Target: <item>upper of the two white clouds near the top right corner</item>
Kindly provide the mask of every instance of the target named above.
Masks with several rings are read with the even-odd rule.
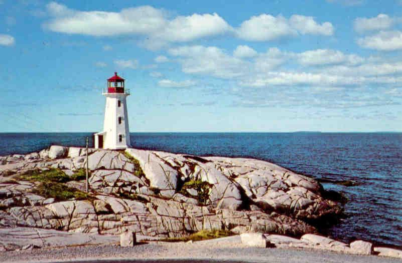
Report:
[[[353,28],[358,33],[387,30],[394,24],[394,22],[395,20],[387,15],[379,14],[374,18],[355,19],[353,22]]]

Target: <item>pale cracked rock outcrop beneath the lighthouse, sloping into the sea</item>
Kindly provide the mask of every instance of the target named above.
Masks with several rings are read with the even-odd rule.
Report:
[[[0,250],[113,243],[123,228],[147,239],[208,229],[300,237],[342,214],[316,180],[270,162],[139,149],[89,149],[85,193],[85,155],[51,146],[0,157]]]

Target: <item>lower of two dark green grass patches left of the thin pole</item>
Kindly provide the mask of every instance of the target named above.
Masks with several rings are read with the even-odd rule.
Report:
[[[87,200],[92,198],[83,191],[56,182],[42,182],[34,187],[32,192],[45,198],[53,197],[56,201],[67,201],[70,199]]]

